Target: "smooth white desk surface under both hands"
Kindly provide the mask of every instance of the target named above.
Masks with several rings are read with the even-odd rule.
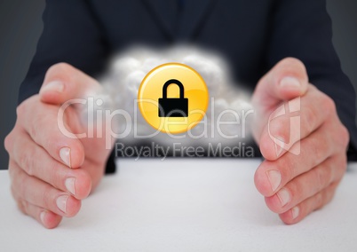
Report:
[[[76,217],[47,230],[0,172],[0,251],[357,251],[357,163],[334,201],[285,225],[253,183],[258,160],[119,161]]]

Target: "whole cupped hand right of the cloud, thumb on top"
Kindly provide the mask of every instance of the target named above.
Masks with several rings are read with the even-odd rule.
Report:
[[[308,83],[298,59],[283,59],[266,74],[252,102],[254,137],[266,158],[255,184],[284,223],[298,223],[331,201],[345,174],[348,131],[334,101]],[[291,130],[290,114],[300,117]]]

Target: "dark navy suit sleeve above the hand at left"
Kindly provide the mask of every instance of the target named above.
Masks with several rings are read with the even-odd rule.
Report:
[[[19,104],[38,93],[49,67],[67,62],[88,75],[97,75],[107,61],[107,44],[89,1],[47,0],[44,30],[28,74],[20,85]],[[107,172],[114,171],[113,158]]]

